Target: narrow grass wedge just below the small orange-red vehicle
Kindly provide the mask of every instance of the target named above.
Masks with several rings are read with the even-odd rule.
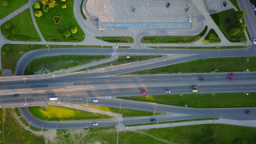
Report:
[[[93,70],[93,69],[97,69],[97,68],[104,68],[104,67],[108,67],[108,66],[116,66],[116,65],[120,65],[120,64],[128,64],[128,63],[131,63],[131,62],[137,62],[137,61],[142,61],[142,60],[149,60],[149,59],[152,59],[152,58],[160,58],[161,56],[130,56],[130,58],[126,58],[126,56],[118,56],[118,59],[115,60],[115,61],[112,61],[112,62],[108,62],[108,63],[105,63],[105,64],[100,64],[100,65],[97,65],[97,66],[92,66],[88,69],[90,70]],[[84,70],[87,70],[84,69]],[[84,71],[84,70],[80,70],[80,71]]]

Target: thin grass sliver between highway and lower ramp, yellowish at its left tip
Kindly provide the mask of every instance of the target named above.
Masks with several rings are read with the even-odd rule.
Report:
[[[76,104],[76,105],[85,106],[85,104]],[[121,106],[122,106],[122,104],[121,104]],[[122,114],[123,118],[164,114],[164,113],[159,113],[159,112],[156,112],[156,114],[154,114],[153,112],[146,112],[146,111],[142,111],[142,110],[130,110],[130,109],[125,109],[125,108],[121,108],[121,110],[120,110],[120,108],[113,108],[113,107],[108,107],[108,106],[89,105],[86,107],[94,108],[97,110],[103,110],[106,112],[114,112],[114,113]]]

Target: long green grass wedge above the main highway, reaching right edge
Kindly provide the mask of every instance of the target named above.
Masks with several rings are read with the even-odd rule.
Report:
[[[251,72],[256,71],[256,58],[247,57],[239,58],[207,58],[205,60],[192,60],[180,64],[173,64],[170,66],[163,66],[159,68],[152,68],[148,70],[141,70],[137,72],[130,72],[124,75],[144,75],[144,74],[177,74],[181,73],[210,73],[215,69],[218,72],[244,72],[249,69]]]

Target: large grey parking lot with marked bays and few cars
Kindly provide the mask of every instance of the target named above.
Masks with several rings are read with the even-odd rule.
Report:
[[[167,8],[167,4],[170,7]],[[188,12],[186,9],[189,7]],[[189,23],[189,0],[88,0],[86,11],[101,24]]]

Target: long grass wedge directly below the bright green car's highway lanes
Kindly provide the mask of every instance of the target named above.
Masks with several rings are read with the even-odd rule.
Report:
[[[134,100],[140,102],[151,102],[156,104],[166,104],[172,106],[182,106],[186,104],[189,108],[250,108],[256,107],[256,92],[250,92],[247,96],[243,92],[239,93],[216,93],[212,94],[170,94],[170,95],[148,95],[117,97],[124,100]]]

